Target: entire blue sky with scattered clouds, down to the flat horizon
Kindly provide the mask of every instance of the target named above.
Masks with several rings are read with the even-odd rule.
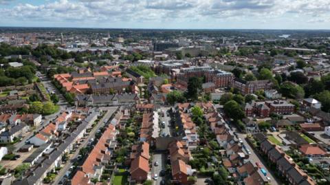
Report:
[[[0,0],[0,26],[330,29],[330,0]]]

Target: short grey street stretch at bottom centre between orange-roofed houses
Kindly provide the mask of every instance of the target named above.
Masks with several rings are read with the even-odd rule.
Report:
[[[155,166],[155,162],[158,162],[158,166]],[[153,185],[159,185],[163,177],[159,175],[160,171],[166,168],[166,154],[165,153],[153,153],[153,167],[151,168],[151,177],[155,174],[158,175],[157,180],[153,180]]]

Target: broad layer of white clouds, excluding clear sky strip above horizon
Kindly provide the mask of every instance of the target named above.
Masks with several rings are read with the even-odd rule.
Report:
[[[0,4],[9,1],[0,0]],[[39,6],[15,2],[18,4],[12,8],[0,8],[0,23],[48,21],[76,26],[104,21],[138,22],[140,28],[144,28],[152,27],[153,23],[189,25],[196,21],[209,24],[232,20],[265,24],[267,20],[288,19],[311,24],[313,21],[326,23],[330,17],[329,0],[56,0]],[[301,16],[307,19],[300,20]]]

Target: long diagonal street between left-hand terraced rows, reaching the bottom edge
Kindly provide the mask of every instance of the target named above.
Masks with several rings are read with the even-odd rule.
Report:
[[[65,166],[63,166],[61,171],[58,172],[58,175],[56,175],[54,182],[52,182],[52,184],[58,184],[58,182],[61,181],[61,179],[65,175],[65,173],[67,173],[67,171],[69,171],[69,168],[74,164],[74,159],[76,157],[78,157],[80,149],[82,149],[83,147],[86,147],[87,143],[89,142],[89,140],[91,140],[91,138],[93,138],[93,139],[95,138],[96,131],[98,129],[100,129],[101,127],[104,127],[104,120],[109,120],[109,118],[112,116],[112,114],[117,109],[118,109],[118,107],[111,107],[108,109],[107,113],[105,113],[103,118],[101,118],[100,121],[98,122],[98,124],[96,124],[96,127],[94,127],[94,129],[91,130],[88,137],[84,140],[83,144],[80,144],[80,146],[78,147],[78,149],[76,149],[76,151],[74,152],[74,154],[72,155],[70,160],[68,160],[68,162],[65,164]]]

